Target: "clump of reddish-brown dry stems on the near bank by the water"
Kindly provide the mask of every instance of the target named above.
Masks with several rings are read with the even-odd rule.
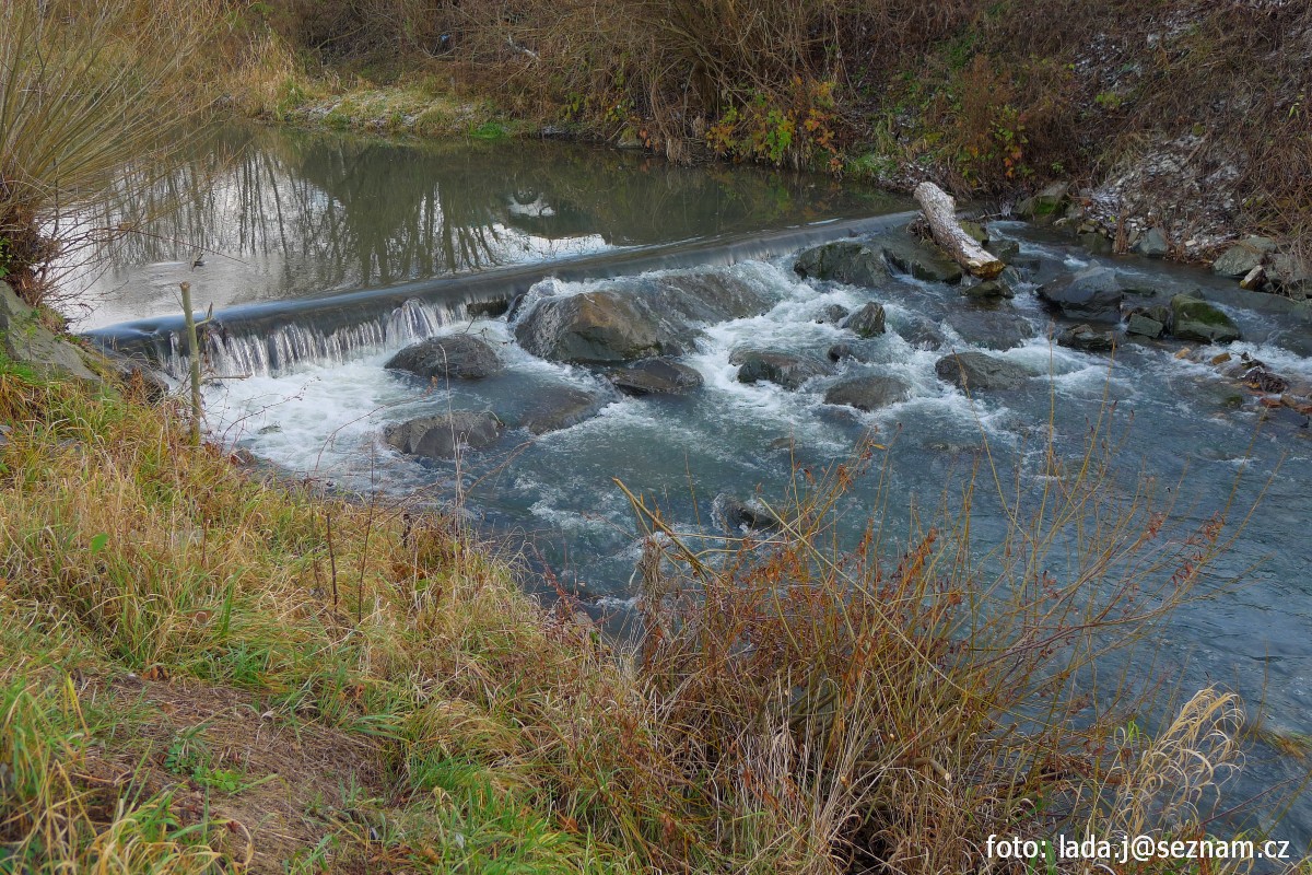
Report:
[[[1099,686],[1089,669],[1115,649],[1147,659],[1141,635],[1198,594],[1227,535],[1220,519],[1174,530],[1151,496],[1119,495],[1103,438],[1075,464],[1050,455],[1040,495],[1013,484],[1008,534],[983,551],[968,492],[908,533],[882,530],[876,512],[855,548],[840,547],[833,526],[861,463],[799,481],[783,533],[727,554],[635,497],[651,544],[644,677],[682,728],[684,769],[744,825],[723,837],[729,854],[764,846],[781,871],[964,871],[991,833],[1101,819],[1107,786],[1207,783],[1168,765],[1187,769],[1193,754],[1126,735],[1151,690],[1124,676]],[[880,487],[876,505],[887,500]],[[908,547],[890,558],[895,535]],[[1232,740],[1221,701],[1181,719]],[[1233,746],[1204,753],[1198,762],[1220,766]],[[1140,756],[1145,777],[1119,777]]]

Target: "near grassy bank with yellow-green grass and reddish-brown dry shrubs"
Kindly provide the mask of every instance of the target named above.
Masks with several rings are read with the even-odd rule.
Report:
[[[265,484],[133,386],[0,365],[0,421],[7,871],[964,871],[991,833],[1207,834],[1237,753],[1233,697],[1151,737],[1089,670],[1227,537],[1092,450],[983,554],[960,508],[838,550],[875,447],[728,554],[635,496],[625,653],[450,519]]]

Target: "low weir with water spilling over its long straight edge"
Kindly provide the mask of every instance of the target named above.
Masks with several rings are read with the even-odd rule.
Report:
[[[302,362],[341,362],[363,352],[399,348],[471,317],[471,307],[509,303],[546,278],[609,279],[652,270],[728,266],[773,258],[807,245],[875,234],[905,224],[913,213],[838,219],[795,228],[640,247],[483,273],[424,279],[315,298],[261,302],[214,314],[203,352],[219,376],[273,375]],[[190,357],[182,315],[160,316],[85,333],[105,350],[144,357],[178,376]]]

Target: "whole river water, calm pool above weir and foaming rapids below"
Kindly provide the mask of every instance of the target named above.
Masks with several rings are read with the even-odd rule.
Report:
[[[715,531],[722,496],[769,500],[795,468],[848,457],[870,429],[890,445],[886,531],[905,531],[909,508],[934,508],[983,458],[1036,488],[1051,437],[1077,458],[1092,422],[1114,408],[1119,479],[1155,479],[1186,523],[1261,495],[1242,537],[1214,568],[1233,592],[1181,610],[1157,630],[1157,668],[1183,689],[1218,682],[1263,701],[1269,725],[1312,733],[1312,442],[1305,417],[1267,416],[1206,363],[1221,350],[1177,357],[1181,344],[1127,342],[1106,354],[1055,346],[1051,316],[1033,295],[980,310],[959,290],[899,277],[878,291],[802,279],[796,251],[819,240],[905,223],[900,202],[830,180],[747,169],[680,169],[631,153],[554,143],[405,147],[344,136],[235,131],[244,151],[213,172],[213,194],[142,237],[97,281],[102,306],[84,324],[104,342],[181,366],[172,289],[193,283],[214,302],[207,332],[213,433],[260,459],[341,488],[419,495],[441,504],[459,488],[487,525],[513,530],[597,614],[623,624],[639,540],[622,480],[682,527]],[[199,171],[197,171],[199,176]],[[180,189],[186,186],[181,182]],[[1068,237],[994,223],[1035,266],[1035,282],[1105,262],[1158,295],[1202,293],[1241,327],[1248,352],[1295,382],[1312,383],[1312,321],[1287,300],[1239,291],[1206,272],[1094,256]],[[165,239],[201,239],[194,252]],[[706,325],[685,363],[705,386],[685,396],[627,397],[594,369],[530,356],[514,320],[544,295],[606,282],[714,275],[771,302],[764,315]],[[523,294],[512,314],[479,304]],[[855,341],[821,320],[832,304],[884,304],[888,333]],[[1001,328],[1000,328],[1001,325]],[[935,376],[943,350],[988,344],[1000,329],[1033,336],[998,356],[1048,378],[968,399]],[[506,369],[492,378],[424,386],[383,369],[399,348],[475,332]],[[938,335],[938,348],[926,338]],[[838,374],[799,391],[737,382],[741,346],[817,353],[857,346]],[[1197,350],[1195,350],[1197,352]],[[1200,363],[1202,362],[1202,363]],[[911,397],[875,413],[823,403],[851,373],[896,375]],[[457,463],[419,462],[380,441],[391,422],[449,409],[493,409],[513,420],[560,387],[598,399],[598,413],[534,437],[510,430],[492,450]],[[1236,485],[1237,484],[1237,485]],[[1265,492],[1265,493],[1263,493]],[[858,487],[851,518],[875,512]],[[992,510],[991,510],[992,508]],[[1002,526],[981,500],[975,537]],[[855,523],[854,523],[855,525]],[[1291,781],[1299,763],[1250,756],[1237,795]],[[1278,837],[1307,845],[1312,805],[1299,803]]]

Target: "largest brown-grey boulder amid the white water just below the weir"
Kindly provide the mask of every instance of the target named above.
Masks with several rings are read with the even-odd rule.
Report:
[[[771,302],[723,270],[627,277],[577,295],[537,300],[518,320],[514,337],[542,358],[615,363],[677,356],[698,323],[754,316]]]

